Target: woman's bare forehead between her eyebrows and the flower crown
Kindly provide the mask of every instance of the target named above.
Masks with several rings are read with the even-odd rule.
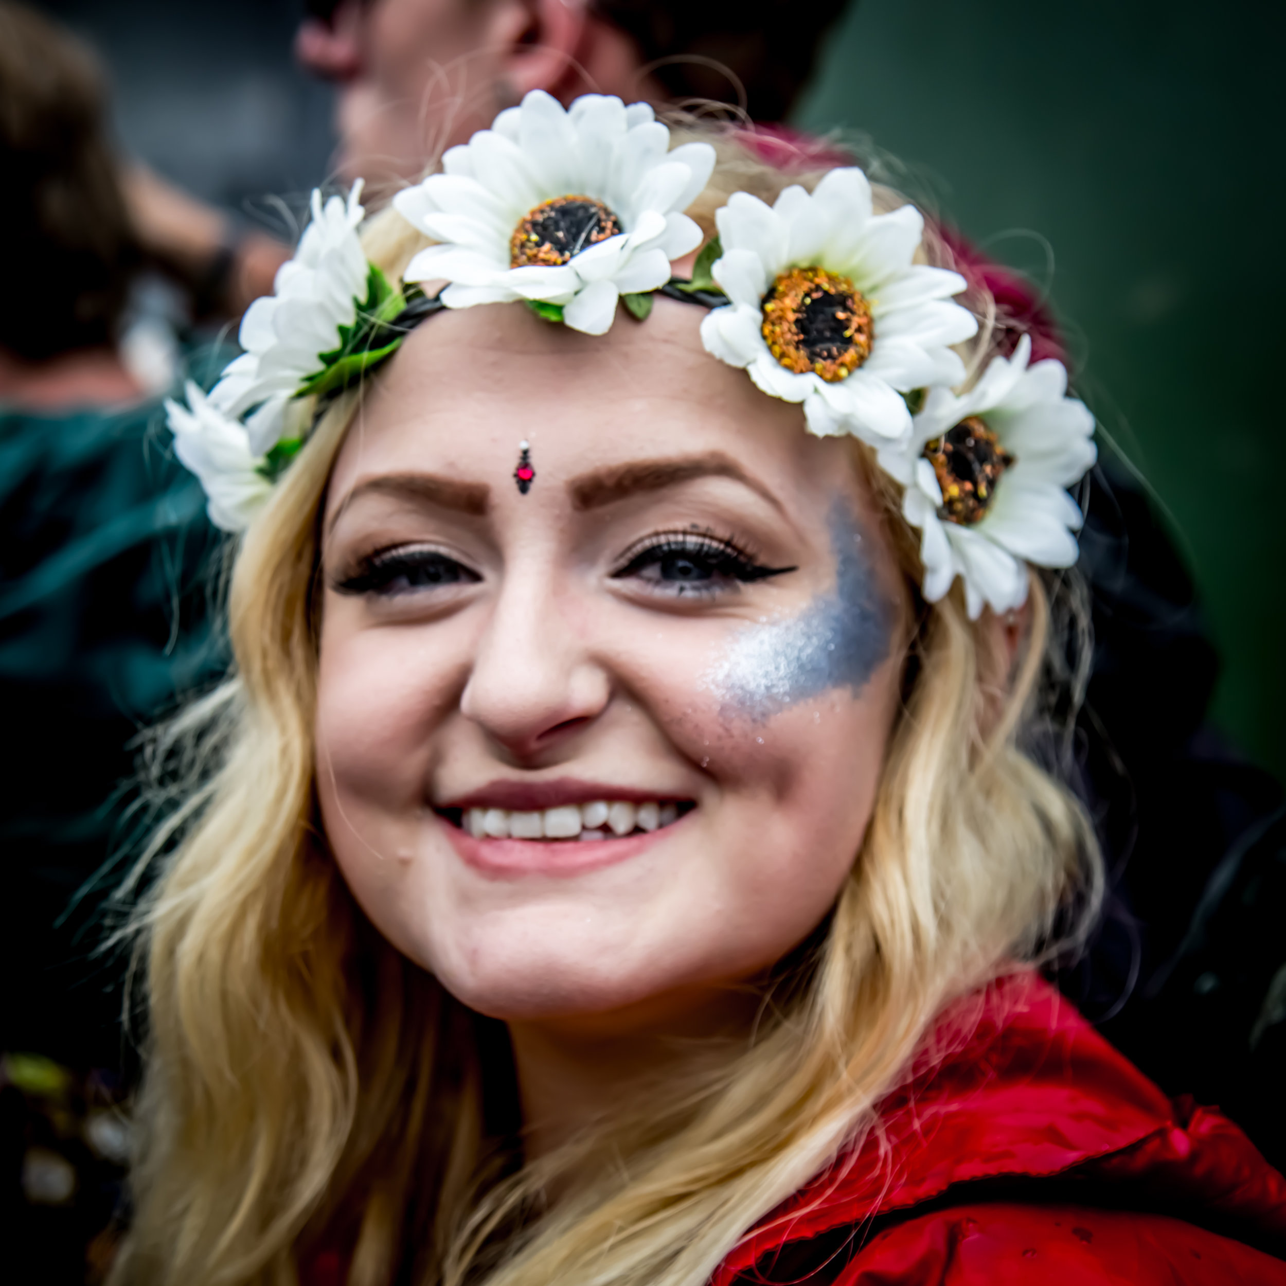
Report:
[[[658,300],[606,336],[550,325],[522,305],[431,318],[379,376],[354,421],[332,504],[359,477],[414,467],[490,469],[496,453],[563,478],[630,460],[721,454],[809,503],[851,477],[845,445],[804,431],[799,406],[764,396],[701,346],[703,310]]]

